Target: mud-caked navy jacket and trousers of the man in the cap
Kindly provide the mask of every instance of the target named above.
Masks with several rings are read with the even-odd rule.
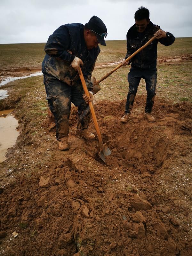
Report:
[[[47,100],[55,117],[57,140],[68,139],[71,102],[78,107],[77,129],[87,129],[90,108],[83,99],[84,90],[78,72],[70,66],[75,56],[83,61],[82,72],[88,91],[92,91],[91,76],[99,46],[88,50],[84,40],[84,25],[60,26],[49,36],[42,62]]]

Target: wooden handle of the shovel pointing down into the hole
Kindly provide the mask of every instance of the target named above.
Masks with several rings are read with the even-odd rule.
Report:
[[[78,70],[78,73],[79,73],[79,76],[80,76],[80,79],[81,79],[81,83],[83,85],[84,92],[85,92],[86,96],[90,98],[89,92],[88,92],[88,89],[87,89],[87,85],[85,83],[85,79],[84,79],[84,76],[83,76],[83,73],[82,73],[82,70],[81,70],[80,67],[77,68],[77,70]],[[91,110],[91,114],[92,114],[93,122],[95,124],[96,131],[97,131],[97,136],[98,136],[98,139],[99,139],[99,144],[103,144],[103,141],[102,141],[102,138],[101,138],[101,134],[100,134],[99,125],[97,123],[97,118],[96,118],[96,115],[95,115],[95,110],[93,108],[92,101],[89,101],[89,107],[90,107],[90,110]]]

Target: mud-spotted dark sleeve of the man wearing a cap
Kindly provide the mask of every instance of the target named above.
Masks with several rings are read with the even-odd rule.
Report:
[[[75,56],[67,51],[70,49],[70,44],[69,31],[63,25],[57,28],[53,34],[49,36],[44,50],[51,57],[72,62]]]

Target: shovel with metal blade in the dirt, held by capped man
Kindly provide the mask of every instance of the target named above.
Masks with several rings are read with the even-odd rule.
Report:
[[[81,83],[83,85],[84,92],[85,92],[86,96],[90,98],[81,68],[80,67],[77,68],[77,71],[79,73]],[[93,122],[95,124],[95,128],[96,128],[96,131],[97,131],[97,136],[98,136],[98,139],[99,139],[99,144],[98,144],[98,148],[100,150],[99,151],[99,156],[103,160],[103,162],[106,164],[105,157],[110,155],[111,151],[110,151],[110,149],[108,148],[108,146],[106,144],[103,144],[101,134],[100,134],[99,125],[97,123],[97,118],[96,118],[96,115],[95,115],[95,111],[94,111],[94,108],[93,108],[92,101],[89,102],[89,107],[90,107],[90,110],[91,110],[91,114],[92,114],[92,117],[93,117]]]

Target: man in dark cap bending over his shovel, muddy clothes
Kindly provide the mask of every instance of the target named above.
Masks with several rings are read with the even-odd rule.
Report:
[[[55,117],[56,138],[60,150],[69,149],[69,115],[71,102],[78,107],[76,134],[86,140],[95,135],[88,131],[91,113],[89,101],[93,100],[91,76],[100,47],[106,45],[107,28],[103,21],[93,16],[85,25],[65,24],[56,29],[45,45],[42,62],[44,84],[49,108]],[[90,99],[84,94],[77,68],[82,72]]]

